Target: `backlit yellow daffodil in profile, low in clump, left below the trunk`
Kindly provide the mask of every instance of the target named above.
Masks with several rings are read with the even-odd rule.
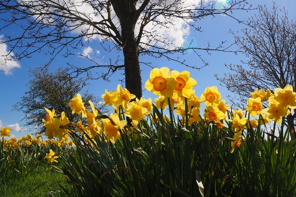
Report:
[[[121,137],[119,129],[123,129],[127,122],[125,120],[120,121],[118,115],[115,113],[110,115],[110,119],[102,119],[102,121],[104,131],[107,134],[107,140],[114,144],[116,140]]]

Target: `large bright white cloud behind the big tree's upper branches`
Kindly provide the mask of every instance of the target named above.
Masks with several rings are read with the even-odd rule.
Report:
[[[31,1],[33,1],[33,0],[31,0]],[[203,2],[203,5],[217,2],[216,4],[219,6],[222,6],[222,5],[226,6],[227,3],[229,2],[229,0],[180,0],[175,5],[175,7],[171,7],[171,9],[182,9],[182,8],[185,8],[186,10],[194,9],[194,8],[200,6],[201,1]],[[53,0],[53,2],[59,2],[59,1]],[[94,4],[96,2],[97,1],[92,1],[92,3],[94,3]],[[142,2],[143,1],[138,1],[137,8],[139,8],[141,6]],[[175,0],[164,0],[163,4],[165,4],[165,6],[167,6],[167,5],[173,4],[174,2],[175,2]],[[97,3],[99,3],[99,2],[97,2]],[[158,0],[151,0],[149,3],[150,4],[158,3]],[[108,18],[108,13],[107,13],[106,9],[103,9],[100,12],[100,14],[97,14],[96,13],[97,11],[95,11],[93,9],[93,6],[91,6],[90,3],[87,3],[87,1],[83,1],[81,3],[80,0],[73,0],[72,4],[64,1],[64,4],[65,4],[64,7],[68,6],[79,17],[87,19],[87,20],[100,22],[103,19]],[[96,6],[96,5],[94,5],[94,6]],[[157,9],[157,8],[162,8],[162,7],[156,7],[156,6],[154,7],[154,9]],[[42,11],[42,10],[40,10],[40,11]],[[44,10],[44,11],[46,11],[46,10]],[[141,16],[143,17],[144,15],[142,14]],[[186,17],[186,16],[189,16],[189,14],[183,13],[182,16]],[[111,19],[112,19],[113,24],[115,24],[116,29],[118,29],[120,32],[120,30],[121,30],[120,23],[119,23],[117,16],[115,15],[115,12],[114,12],[112,6],[111,6]],[[162,15],[158,16],[155,20],[164,23],[166,27],[158,25],[157,23],[150,22],[144,28],[144,32],[146,32],[146,33],[151,32],[152,36],[149,34],[147,34],[146,36],[143,36],[141,39],[141,42],[149,43],[150,45],[156,45],[158,47],[163,47],[166,49],[173,49],[175,47],[182,47],[182,45],[186,41],[187,36],[190,34],[190,29],[189,29],[188,23],[193,22],[193,21],[191,19],[180,19],[178,17],[173,18],[171,16],[164,17]],[[139,34],[141,22],[142,22],[142,20],[140,17],[140,19],[138,20],[138,24],[135,27],[135,35],[136,36]],[[91,25],[81,25],[80,27],[77,27],[76,25],[79,25],[79,23],[80,23],[79,21],[77,21],[76,23],[69,22],[68,25],[73,27],[73,30],[70,29],[71,33],[73,33],[73,34],[81,34],[81,32],[89,33],[89,34],[93,33],[92,35],[90,35],[91,37],[84,38],[85,40],[89,40],[89,41],[92,41],[94,39],[102,41],[103,39],[106,38],[100,34],[96,34],[99,32],[96,29],[94,29]],[[111,31],[110,33],[115,34],[114,32],[112,32],[112,30],[110,30],[110,31]],[[149,46],[145,46],[145,45],[142,45],[142,47],[147,48],[147,49],[149,48]],[[90,47],[84,48],[82,55],[85,54],[85,56],[86,55],[89,56],[93,52],[92,50],[90,52],[87,51],[87,49],[89,49],[89,48]],[[96,53],[99,54],[99,51],[96,51]]]

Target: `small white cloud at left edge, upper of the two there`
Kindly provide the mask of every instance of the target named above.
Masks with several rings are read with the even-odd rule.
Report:
[[[13,68],[21,67],[17,61],[14,60],[6,60],[5,56],[8,54],[7,45],[5,43],[1,43],[3,41],[3,35],[0,35],[0,70],[4,71],[5,75],[11,75]],[[13,56],[13,53],[10,53]],[[11,56],[8,56],[6,59],[12,59]]]

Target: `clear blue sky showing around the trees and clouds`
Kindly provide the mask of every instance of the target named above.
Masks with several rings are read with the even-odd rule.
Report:
[[[228,0],[227,0],[228,1]],[[215,3],[215,1],[213,1]],[[223,2],[226,2],[223,0]],[[221,6],[223,2],[219,2],[216,6]],[[271,10],[272,0],[249,0],[250,4],[256,7],[258,4],[266,4],[266,7]],[[276,6],[278,8],[282,8],[285,6],[285,9],[288,11],[289,20],[295,20],[296,13],[296,1],[295,0],[274,0]],[[251,16],[254,16],[258,11],[235,11],[233,14],[234,17],[237,17],[240,20],[247,19]],[[202,27],[202,33],[195,32],[190,29],[190,34],[187,36],[187,41],[190,42],[193,39],[193,44],[196,47],[207,47],[207,43],[209,42],[211,47],[218,46],[221,41],[227,40],[225,46],[233,43],[234,38],[233,35],[229,32],[229,29],[236,32],[239,31],[245,26],[243,24],[238,24],[235,20],[231,19],[227,16],[216,16],[206,17],[198,22],[195,22],[197,26]],[[0,24],[0,26],[2,26]],[[0,39],[5,39],[2,35],[14,34],[14,29],[7,28],[3,31],[0,31]],[[241,34],[241,33],[240,33]],[[180,40],[179,40],[180,41]],[[122,56],[122,52],[119,53],[108,53],[104,51],[104,49],[100,46],[100,41],[91,40],[90,42],[85,42],[85,46],[78,48],[75,53],[80,54],[88,54],[94,60],[101,62],[102,64],[110,64],[109,58],[117,55]],[[186,44],[186,43],[185,43]],[[0,44],[0,55],[3,54],[7,50],[5,45]],[[17,52],[17,51],[13,51]],[[229,103],[226,96],[231,95],[229,91],[219,85],[219,81],[216,80],[214,74],[218,74],[218,77],[222,77],[224,73],[228,73],[229,71],[225,68],[224,64],[240,64],[240,60],[245,60],[246,57],[243,54],[234,55],[233,53],[226,52],[212,52],[211,55],[208,55],[204,51],[199,51],[202,55],[203,59],[209,63],[209,66],[206,66],[200,70],[191,69],[189,67],[181,66],[179,63],[175,63],[173,61],[168,61],[165,58],[162,59],[154,59],[147,56],[140,56],[140,62],[152,62],[152,66],[162,67],[167,66],[170,69],[176,69],[178,71],[187,70],[191,73],[191,77],[197,81],[197,85],[195,86],[196,95],[200,96],[204,89],[208,86],[217,86],[219,91],[222,94],[222,99],[225,99],[226,102]],[[3,64],[3,60],[0,63]],[[198,56],[194,52],[188,52],[185,56],[181,57],[186,59],[186,63],[194,66],[203,66],[202,62],[198,60]],[[25,116],[22,112],[12,111],[12,105],[20,100],[20,98],[24,95],[28,87],[26,84],[29,81],[28,70],[29,67],[34,68],[37,66],[42,66],[49,60],[49,56],[45,56],[42,53],[36,53],[30,59],[22,59],[21,61],[10,63],[9,66],[4,67],[0,65],[0,126],[6,127],[9,126],[11,128],[11,136],[21,137],[25,134],[29,134],[26,129],[22,132],[19,132],[22,124],[22,117]],[[76,66],[78,65],[91,65],[91,62],[86,60],[85,58],[81,58],[79,56],[70,56],[68,58],[64,58],[62,56],[58,56],[50,65],[50,70],[54,71],[57,67],[67,66],[66,63],[74,63]],[[148,66],[141,66],[142,71],[142,83],[145,82],[149,78],[149,73],[151,68]],[[96,70],[99,71],[100,70]],[[94,70],[95,73],[95,70]],[[108,91],[112,91],[116,88],[117,84],[120,83],[118,79],[122,79],[122,73],[116,73],[110,79],[110,82],[106,82],[102,79],[89,81],[91,85],[87,87],[89,93],[93,93],[94,95],[100,96],[104,94],[105,89]],[[124,84],[123,84],[124,85]],[[143,87],[143,90],[145,88]],[[145,98],[151,97],[152,99],[156,98],[156,95],[149,93],[148,91],[143,92],[143,96]]]

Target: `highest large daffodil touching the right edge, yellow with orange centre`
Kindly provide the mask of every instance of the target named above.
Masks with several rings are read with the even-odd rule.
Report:
[[[288,85],[284,89],[274,89],[274,99],[280,103],[284,103],[287,108],[296,108],[296,93],[293,92],[292,85]]]

